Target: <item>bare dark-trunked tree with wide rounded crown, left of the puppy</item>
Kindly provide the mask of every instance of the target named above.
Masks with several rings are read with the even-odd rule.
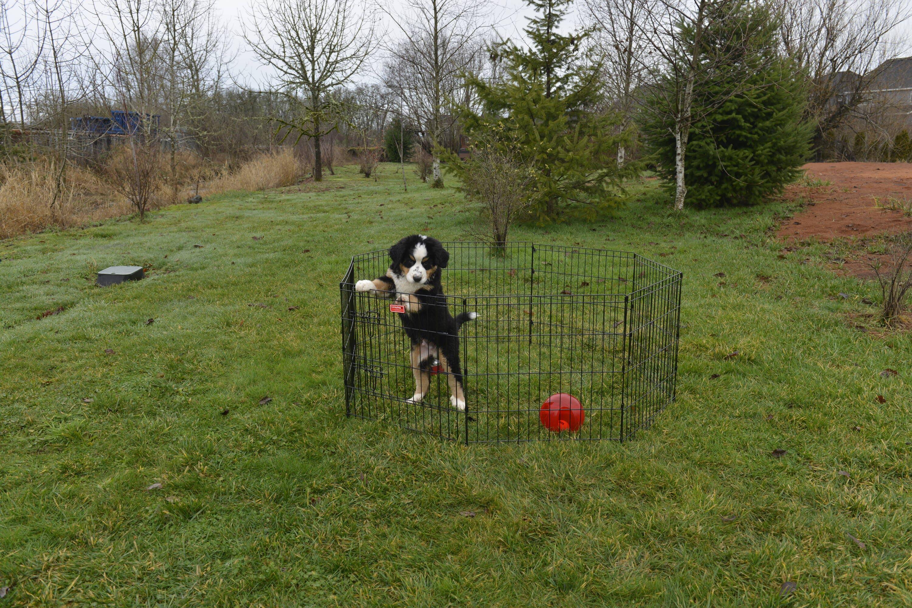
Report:
[[[314,144],[314,180],[323,179],[320,139],[336,129],[334,88],[351,81],[374,47],[374,26],[356,0],[271,0],[251,12],[247,41],[298,103],[280,124]]]

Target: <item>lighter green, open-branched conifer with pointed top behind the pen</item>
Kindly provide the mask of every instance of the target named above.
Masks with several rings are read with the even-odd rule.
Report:
[[[617,203],[621,179],[636,171],[618,169],[615,151],[628,134],[617,135],[617,117],[596,109],[602,98],[600,65],[580,51],[591,30],[557,31],[571,3],[526,0],[536,12],[525,28],[530,47],[510,41],[492,46],[492,57],[503,62],[503,78],[486,82],[468,75],[481,110],[460,108],[470,142],[500,141],[518,149],[523,163],[534,168],[531,211],[543,222],[560,220],[574,203]],[[457,174],[471,168],[451,152],[444,156]]]

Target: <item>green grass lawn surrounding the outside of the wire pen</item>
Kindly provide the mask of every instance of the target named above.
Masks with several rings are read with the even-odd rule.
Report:
[[[684,272],[678,400],[623,445],[466,448],[344,416],[349,256],[474,217],[393,171],[0,242],[0,606],[912,603],[912,347],[782,251],[785,204],[648,182],[518,227]],[[152,270],[93,286],[114,263]]]

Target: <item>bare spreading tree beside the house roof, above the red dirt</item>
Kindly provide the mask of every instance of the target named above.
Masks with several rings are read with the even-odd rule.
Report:
[[[803,73],[806,119],[814,143],[871,100],[877,69],[903,45],[899,27],[912,15],[906,0],[775,0],[785,53]]]

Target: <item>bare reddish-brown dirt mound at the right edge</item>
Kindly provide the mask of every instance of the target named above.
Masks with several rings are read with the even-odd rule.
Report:
[[[912,164],[906,162],[810,162],[810,180],[830,185],[794,184],[786,196],[808,201],[803,211],[783,222],[779,236],[786,240],[822,241],[896,234],[912,230],[912,217],[902,211],[878,208],[907,204],[912,211]]]

